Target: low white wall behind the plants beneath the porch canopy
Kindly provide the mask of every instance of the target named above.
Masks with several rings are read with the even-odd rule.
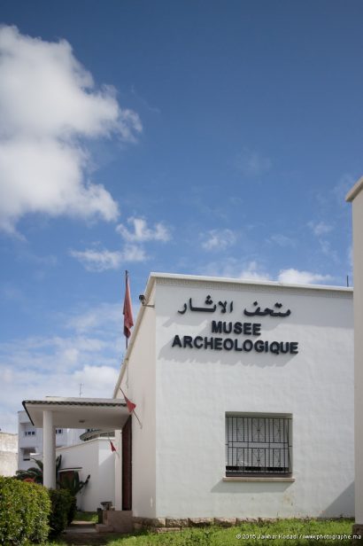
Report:
[[[62,455],[61,468],[81,467],[80,479],[85,481],[90,474],[89,483],[77,495],[77,505],[83,511],[96,511],[103,501],[114,497],[114,457],[107,438],[96,438],[67,448],[57,448]]]

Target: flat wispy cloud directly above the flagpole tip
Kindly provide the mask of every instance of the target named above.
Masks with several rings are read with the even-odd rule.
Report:
[[[143,248],[135,245],[127,245],[121,251],[87,249],[83,251],[71,250],[70,254],[76,260],[81,261],[85,269],[97,273],[108,269],[119,269],[122,263],[147,260]]]

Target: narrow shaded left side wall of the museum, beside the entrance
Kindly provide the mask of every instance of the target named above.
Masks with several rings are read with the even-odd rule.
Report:
[[[151,294],[150,302],[153,301]],[[132,417],[132,503],[134,516],[155,517],[156,463],[155,463],[155,309],[142,308],[143,320],[137,336],[131,339],[129,358],[121,388],[132,402],[143,428]],[[135,341],[135,343],[134,343]],[[118,398],[123,398],[120,391]],[[121,453],[120,435],[117,439]],[[119,461],[117,462],[119,464]],[[121,456],[120,456],[121,464]],[[116,507],[120,510],[120,471],[116,472]]]

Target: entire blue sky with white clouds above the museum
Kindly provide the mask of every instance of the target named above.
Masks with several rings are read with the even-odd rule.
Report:
[[[345,285],[360,1],[2,2],[0,427],[110,396],[124,271]]]

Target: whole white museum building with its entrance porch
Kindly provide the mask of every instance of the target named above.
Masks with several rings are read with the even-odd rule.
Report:
[[[351,516],[352,346],[349,288],[151,274],[113,398],[24,402],[45,483],[54,426],[93,422],[136,522]]]

